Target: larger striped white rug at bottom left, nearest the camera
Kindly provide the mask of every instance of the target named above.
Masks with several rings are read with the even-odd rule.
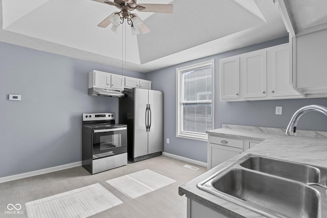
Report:
[[[27,202],[28,217],[88,217],[123,202],[99,183]]]

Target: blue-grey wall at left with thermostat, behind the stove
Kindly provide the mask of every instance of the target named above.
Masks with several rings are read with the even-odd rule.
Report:
[[[115,112],[87,95],[88,72],[121,69],[0,42],[0,178],[82,160],[82,113]],[[145,74],[124,70],[125,76]],[[9,101],[8,94],[21,94]]]

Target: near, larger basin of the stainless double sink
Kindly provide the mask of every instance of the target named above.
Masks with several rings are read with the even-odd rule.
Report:
[[[243,169],[232,169],[213,187],[286,217],[318,217],[319,193],[314,188]]]

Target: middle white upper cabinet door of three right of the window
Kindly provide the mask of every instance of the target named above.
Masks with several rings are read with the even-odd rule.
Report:
[[[244,98],[267,96],[267,52],[260,50],[241,56]]]

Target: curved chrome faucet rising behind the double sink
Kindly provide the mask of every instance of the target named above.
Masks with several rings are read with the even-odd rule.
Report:
[[[327,116],[327,107],[325,106],[321,106],[321,105],[308,105],[308,106],[304,106],[300,109],[298,109],[294,115],[292,116],[292,119],[290,121],[290,123],[287,126],[286,129],[286,135],[293,135],[293,133],[296,132],[296,125],[298,122],[298,119],[305,113],[309,112],[309,111],[319,111],[321,113],[323,113],[324,115]]]

